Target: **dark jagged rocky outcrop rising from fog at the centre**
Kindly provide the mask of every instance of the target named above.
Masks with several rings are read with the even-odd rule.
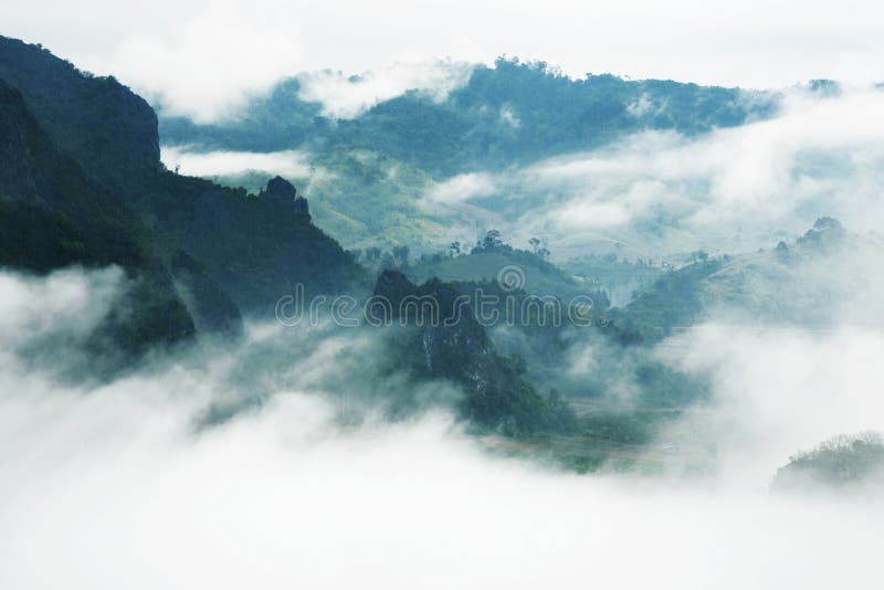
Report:
[[[417,286],[397,271],[381,273],[375,287],[378,305],[412,326],[410,338],[400,343],[401,357],[421,377],[459,384],[465,419],[507,434],[573,428],[570,408],[541,398],[525,378],[524,364],[495,351],[472,305],[460,296],[438,278]]]

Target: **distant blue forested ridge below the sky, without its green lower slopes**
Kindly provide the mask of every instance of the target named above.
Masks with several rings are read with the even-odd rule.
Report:
[[[233,120],[162,117],[164,141],[253,151],[365,149],[440,179],[588,150],[640,130],[733,127],[769,117],[779,105],[770,93],[610,74],[572,80],[544,62],[504,57],[494,67],[476,65],[444,101],[411,91],[350,119],[303,101],[302,84],[278,83]]]

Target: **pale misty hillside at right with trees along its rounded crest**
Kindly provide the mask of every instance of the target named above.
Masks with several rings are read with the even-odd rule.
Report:
[[[629,341],[656,341],[707,317],[767,327],[829,329],[875,317],[884,285],[869,274],[884,257],[874,235],[849,233],[820,218],[791,243],[749,254],[709,257],[662,275],[608,315]],[[865,299],[857,301],[857,294]]]

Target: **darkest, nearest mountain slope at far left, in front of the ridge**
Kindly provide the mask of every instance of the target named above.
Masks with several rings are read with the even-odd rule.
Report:
[[[194,318],[173,273],[145,246],[149,230],[55,149],[21,94],[2,81],[0,138],[0,264],[38,273],[71,264],[123,266],[135,286],[112,313],[117,320],[103,327],[113,346],[102,352],[139,354],[192,336]],[[231,317],[239,317],[235,308]]]

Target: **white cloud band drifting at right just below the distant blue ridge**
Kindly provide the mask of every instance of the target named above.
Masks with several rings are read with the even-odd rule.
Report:
[[[636,134],[501,175],[455,177],[434,191],[493,196],[496,211],[517,219],[501,229],[516,241],[545,238],[558,256],[611,241],[639,256],[748,251],[821,215],[867,231],[884,221],[882,113],[880,91],[819,98],[794,89],[769,120],[698,137]]]

